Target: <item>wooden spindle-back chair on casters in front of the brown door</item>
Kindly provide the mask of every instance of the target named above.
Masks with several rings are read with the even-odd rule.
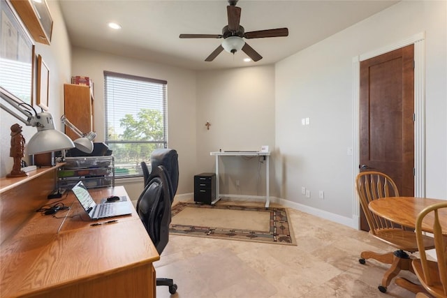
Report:
[[[368,204],[372,200],[386,197],[398,197],[399,191],[393,179],[381,172],[360,172],[356,178],[356,187],[358,198],[365,213],[369,225],[369,234],[377,239],[394,246],[397,251],[389,253],[375,253],[373,251],[363,251],[358,260],[360,264],[365,264],[365,260],[374,259],[384,264],[390,264],[390,268],[383,274],[379,290],[386,292],[390,282],[401,270],[413,271],[411,267],[411,260],[409,253],[418,251],[418,244],[416,242],[416,233],[405,227],[401,227],[396,223],[386,220],[381,216],[369,211]],[[392,200],[392,199],[391,199]],[[398,211],[398,210],[397,210]],[[433,239],[430,237],[423,237],[423,247],[426,249],[434,248]],[[400,285],[400,284],[399,284]],[[404,283],[404,288],[411,290],[411,292],[420,292],[423,290],[421,286],[409,285]]]

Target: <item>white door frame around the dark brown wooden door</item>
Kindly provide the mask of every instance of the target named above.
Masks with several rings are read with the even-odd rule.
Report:
[[[352,59],[353,66],[353,224],[360,229],[360,203],[354,183],[360,172],[359,159],[359,103],[360,61],[414,44],[414,195],[425,197],[425,32],[418,33],[397,43],[360,54]]]

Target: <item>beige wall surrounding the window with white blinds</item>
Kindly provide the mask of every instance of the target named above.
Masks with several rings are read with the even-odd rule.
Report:
[[[196,73],[78,47],[73,48],[72,66],[71,75],[91,77],[94,82],[94,130],[98,142],[104,140],[105,129],[104,70],[168,81],[168,147],[179,154],[177,193],[191,193],[196,172]],[[132,200],[138,199],[142,179],[133,183],[118,181],[119,184],[126,187]]]

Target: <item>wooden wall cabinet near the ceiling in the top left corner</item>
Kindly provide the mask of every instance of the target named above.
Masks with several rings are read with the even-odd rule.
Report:
[[[10,0],[36,43],[50,45],[53,20],[47,1]]]

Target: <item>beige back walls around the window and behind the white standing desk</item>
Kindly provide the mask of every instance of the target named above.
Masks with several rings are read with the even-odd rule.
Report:
[[[119,57],[103,52],[73,48],[72,75],[85,75],[94,82],[94,126],[96,140],[104,140],[103,70],[168,81],[168,146],[179,153],[177,194],[193,192],[193,176],[214,172],[210,151],[254,150],[274,147],[274,67],[204,71],[175,68]],[[197,90],[197,91],[196,91]],[[211,122],[208,131],[205,123]],[[230,161],[232,163],[232,161]],[[233,161],[226,172],[240,180],[240,188],[222,184],[223,193],[265,193],[265,165]],[[228,182],[228,181],[226,181]],[[120,182],[132,200],[142,191],[142,182]],[[230,191],[231,190],[231,191]]]

